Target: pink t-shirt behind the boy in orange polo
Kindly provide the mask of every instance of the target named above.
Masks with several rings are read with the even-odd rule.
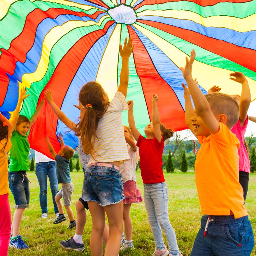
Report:
[[[251,164],[250,164],[249,156],[244,144],[244,136],[245,136],[247,125],[248,125],[248,116],[246,117],[243,127],[241,127],[240,121],[238,120],[237,123],[232,127],[230,131],[234,133],[237,139],[239,139],[240,141],[240,148],[238,149],[239,171],[250,173]]]

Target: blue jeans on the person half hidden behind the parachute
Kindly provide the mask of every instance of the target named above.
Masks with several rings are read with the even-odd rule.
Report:
[[[47,176],[50,181],[50,188],[52,192],[52,202],[54,205],[54,212],[57,213],[58,207],[55,202],[55,195],[59,192],[58,180],[55,169],[55,162],[40,162],[36,164],[36,177],[40,187],[39,201],[42,209],[42,213],[48,213],[47,208]]]

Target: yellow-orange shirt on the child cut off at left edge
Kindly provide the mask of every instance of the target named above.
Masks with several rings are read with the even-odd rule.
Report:
[[[6,146],[5,146],[6,144]],[[4,148],[5,146],[5,148]],[[4,149],[3,149],[4,148]],[[9,193],[9,182],[8,182],[8,158],[7,153],[11,148],[11,139],[2,139],[0,141],[0,195]]]

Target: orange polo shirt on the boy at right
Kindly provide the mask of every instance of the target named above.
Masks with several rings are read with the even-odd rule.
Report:
[[[195,183],[201,213],[207,215],[247,215],[243,189],[239,183],[240,146],[236,135],[220,123],[220,130],[199,136],[201,147],[195,161]],[[233,214],[232,214],[233,213]]]

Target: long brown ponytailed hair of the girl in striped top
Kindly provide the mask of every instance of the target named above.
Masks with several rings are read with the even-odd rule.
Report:
[[[86,154],[93,156],[97,155],[94,151],[94,139],[97,138],[96,130],[99,119],[106,112],[109,102],[103,100],[104,90],[97,82],[86,83],[79,93],[79,100],[83,106],[91,104],[92,108],[86,108],[80,123],[76,125],[76,134],[81,135],[81,140],[86,148]]]

